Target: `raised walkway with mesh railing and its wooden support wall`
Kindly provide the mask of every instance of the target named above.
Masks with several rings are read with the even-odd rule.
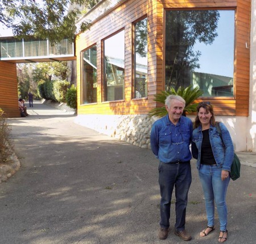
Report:
[[[17,63],[76,60],[74,43],[68,39],[51,45],[48,40],[0,38],[0,108],[19,117]]]

